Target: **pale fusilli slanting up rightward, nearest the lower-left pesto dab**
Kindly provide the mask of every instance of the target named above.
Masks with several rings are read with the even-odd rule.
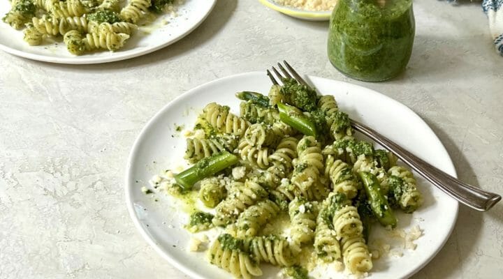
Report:
[[[233,223],[242,211],[249,206],[268,196],[268,191],[259,183],[247,180],[245,183],[236,183],[235,188],[228,193],[226,199],[215,208],[213,224],[225,226]]]

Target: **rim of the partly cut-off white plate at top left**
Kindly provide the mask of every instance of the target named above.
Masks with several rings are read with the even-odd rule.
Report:
[[[207,1],[207,0],[205,0]],[[34,54],[30,52],[24,52],[22,50],[17,50],[13,47],[8,47],[7,45],[3,45],[0,43],[0,50],[3,52],[7,52],[8,54],[13,54],[15,56],[20,56],[26,59],[31,59],[35,61],[43,61],[43,62],[49,62],[49,63],[58,63],[58,64],[68,64],[68,65],[82,65],[82,64],[99,64],[99,63],[110,63],[110,62],[115,62],[115,61],[122,61],[122,60],[127,60],[131,58],[135,58],[138,56],[143,56],[145,54],[150,54],[152,52],[155,52],[156,50],[160,50],[161,48],[167,47],[168,45],[173,45],[176,43],[178,40],[181,40],[185,36],[189,35],[189,33],[192,33],[196,28],[198,28],[205,20],[206,18],[210,15],[212,12],[214,6],[217,4],[217,0],[210,0],[212,1],[210,8],[206,11],[206,13],[201,17],[196,24],[194,24],[191,28],[187,29],[184,33],[181,33],[180,36],[177,36],[173,38],[172,40],[168,40],[165,43],[161,45],[156,45],[155,47],[147,48],[146,50],[141,50],[138,52],[131,52],[129,54],[122,54],[121,52],[114,52],[118,55],[112,55],[112,56],[105,56],[105,57],[84,57],[84,58],[76,58],[75,57],[53,57],[53,56],[47,56],[43,54]]]

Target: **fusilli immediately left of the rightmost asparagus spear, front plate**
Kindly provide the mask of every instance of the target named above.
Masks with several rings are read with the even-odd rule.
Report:
[[[353,169],[342,160],[335,160],[331,155],[327,156],[325,162],[325,174],[333,183],[335,193],[343,193],[349,199],[356,197],[358,193],[358,180],[353,174]]]

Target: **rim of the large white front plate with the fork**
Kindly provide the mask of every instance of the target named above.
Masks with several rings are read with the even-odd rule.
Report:
[[[145,239],[145,241],[147,241],[147,243],[149,243],[150,246],[152,248],[154,248],[154,250],[159,255],[161,255],[161,257],[163,257],[163,259],[166,259],[169,262],[169,264],[171,264],[172,266],[174,266],[176,269],[182,271],[183,273],[185,273],[188,276],[191,276],[193,278],[205,279],[203,276],[201,276],[200,274],[196,273],[192,269],[189,269],[186,266],[184,266],[184,264],[182,264],[178,259],[176,259],[175,257],[172,257],[171,255],[169,255],[168,253],[166,253],[165,251],[163,251],[161,249],[161,247],[157,243],[155,243],[154,239],[149,236],[149,234],[148,234],[147,230],[145,229],[145,227],[143,227],[143,225],[140,223],[140,218],[138,218],[138,216],[136,214],[136,210],[134,208],[133,201],[132,201],[132,195],[131,195],[132,194],[132,189],[133,189],[133,183],[130,183],[130,182],[134,181],[134,179],[133,179],[133,172],[131,171],[131,163],[133,162],[133,158],[136,156],[136,154],[139,151],[140,142],[142,142],[143,138],[147,136],[146,132],[150,128],[150,126],[152,125],[152,123],[154,123],[155,121],[157,121],[158,119],[160,119],[161,115],[164,114],[166,112],[166,110],[168,110],[171,106],[175,105],[175,103],[178,100],[180,100],[181,98],[184,98],[184,97],[190,95],[193,91],[198,91],[198,90],[204,88],[205,86],[210,86],[210,84],[214,84],[214,83],[217,83],[217,82],[225,82],[226,80],[235,79],[235,78],[240,77],[240,76],[257,75],[257,74],[263,75],[264,73],[263,73],[263,71],[251,71],[251,72],[246,72],[246,73],[238,73],[238,74],[234,74],[234,75],[228,75],[226,77],[221,77],[221,78],[218,78],[218,79],[215,79],[215,80],[210,80],[209,82],[205,82],[205,83],[200,84],[198,86],[195,86],[195,87],[193,87],[193,88],[191,88],[191,89],[189,89],[187,91],[184,91],[184,93],[182,93],[179,96],[173,98],[173,100],[170,100],[170,102],[168,102],[166,105],[164,105],[159,111],[157,111],[154,114],[154,116],[152,116],[147,121],[147,123],[145,123],[145,126],[143,126],[143,128],[140,130],[140,133],[138,134],[138,136],[134,140],[133,146],[132,146],[131,151],[129,153],[129,156],[127,157],[126,170],[125,170],[126,171],[126,175],[125,175],[125,181],[124,181],[125,182],[124,183],[124,191],[125,191],[124,198],[125,198],[126,207],[128,209],[129,216],[133,220],[133,224],[135,225],[135,227],[138,230],[138,232],[140,232],[141,236],[143,236],[143,239]],[[361,85],[358,85],[358,84],[353,84],[351,82],[346,82],[346,81],[341,81],[341,80],[333,80],[333,79],[329,79],[329,78],[326,78],[326,77],[317,77],[317,76],[314,76],[314,75],[306,75],[306,77],[308,78],[308,80],[311,80],[312,78],[314,78],[314,79],[328,80],[330,82],[341,82],[341,83],[349,84],[350,86],[354,86],[355,88],[364,89],[365,91],[367,91],[369,93],[379,95],[381,98],[385,98],[388,101],[391,101],[392,103],[395,103],[397,105],[400,105],[401,107],[404,107],[405,110],[409,110],[409,112],[411,112],[412,114],[414,114],[415,116],[417,116],[418,119],[421,119],[421,121],[425,124],[425,127],[428,128],[428,129],[430,129],[430,132],[432,133],[432,135],[435,135],[435,137],[437,138],[437,140],[441,144],[442,151],[444,151],[444,153],[446,154],[447,158],[449,159],[447,163],[449,163],[448,167],[451,169],[451,171],[448,172],[448,173],[451,174],[452,176],[456,177],[456,178],[458,177],[458,174],[456,172],[455,165],[454,165],[454,163],[452,161],[452,158],[449,155],[449,152],[447,152],[447,150],[446,150],[444,144],[442,143],[442,141],[439,139],[439,137],[437,136],[437,134],[435,134],[435,132],[432,130],[432,128],[430,128],[430,126],[428,125],[428,123],[426,123],[421,118],[421,116],[419,116],[418,114],[416,114],[416,112],[414,112],[414,110],[411,110],[411,108],[409,108],[407,105],[404,105],[404,104],[400,103],[398,100],[395,100],[395,99],[393,99],[393,98],[391,98],[389,96],[386,96],[383,93],[379,93],[379,91],[375,91],[373,89],[370,89],[370,88],[367,88],[365,86],[361,86]],[[447,195],[443,191],[442,191],[442,193],[444,195]],[[417,273],[418,271],[420,271],[421,269],[423,269],[424,266],[426,266],[427,264],[429,264],[431,262],[431,260],[440,252],[440,250],[442,250],[442,248],[444,248],[445,243],[451,237],[451,234],[452,234],[453,229],[455,227],[455,223],[458,220],[459,202],[457,202],[457,201],[454,200],[453,204],[455,206],[455,212],[453,214],[454,218],[452,219],[451,223],[448,224],[448,225],[450,225],[450,228],[449,228],[449,232],[446,234],[446,237],[445,237],[444,241],[442,241],[441,245],[438,246],[437,250],[435,250],[435,252],[433,252],[430,255],[430,257],[428,257],[428,258],[426,258],[426,259],[423,260],[423,263],[421,265],[419,265],[416,269],[413,269],[413,270],[409,271],[408,273],[404,274],[404,277],[402,277],[402,278],[409,278],[410,276],[414,275],[414,273]]]

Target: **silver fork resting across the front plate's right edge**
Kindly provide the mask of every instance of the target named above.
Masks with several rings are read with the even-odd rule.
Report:
[[[300,84],[310,86],[304,79],[302,79],[302,77],[300,77],[300,75],[290,66],[289,63],[286,61],[283,61],[283,63],[284,66],[282,66],[281,63],[277,63],[277,66],[279,70],[282,71],[283,75],[279,73],[274,66],[272,67],[272,71],[278,77],[279,82],[282,82],[284,78],[288,77],[297,80]],[[273,84],[279,84],[270,70],[267,70],[267,75]],[[476,188],[467,183],[462,183],[455,177],[442,172],[442,170],[437,169],[429,163],[426,163],[424,160],[421,160],[421,158],[414,156],[414,154],[402,148],[400,145],[384,137],[384,135],[377,133],[372,128],[367,127],[358,121],[351,119],[351,126],[353,126],[353,128],[358,132],[381,144],[384,148],[395,153],[400,160],[409,165],[409,167],[414,169],[418,174],[421,174],[421,176],[430,181],[430,183],[472,209],[476,209],[478,211],[488,211],[501,199],[500,195],[481,190],[480,188]]]

